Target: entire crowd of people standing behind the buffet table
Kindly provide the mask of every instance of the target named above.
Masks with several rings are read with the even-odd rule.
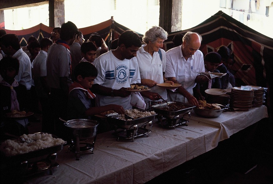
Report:
[[[52,30],[50,38],[40,42],[29,37],[21,47],[15,34],[0,30],[1,65],[1,133],[27,133],[28,119],[5,118],[12,110],[42,113],[42,132],[66,139],[59,118],[92,119],[113,110],[152,110],[152,105],[180,101],[198,106],[210,88],[235,86],[230,66],[231,51],[222,46],[205,57],[199,50],[202,37],[197,32],[174,36],[174,48],[165,52],[167,32],[157,26],[141,39],[134,31],[123,32],[108,49],[98,33],[88,40],[73,22]],[[197,72],[226,73],[214,80]],[[175,90],[157,86],[181,84]],[[131,85],[151,90],[127,91]],[[39,104],[41,108],[39,108]],[[10,123],[12,121],[12,123]]]

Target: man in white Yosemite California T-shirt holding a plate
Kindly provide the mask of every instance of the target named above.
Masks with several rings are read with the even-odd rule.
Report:
[[[125,31],[119,36],[118,48],[111,50],[96,60],[98,76],[92,85],[96,93],[96,105],[122,105],[132,109],[131,92],[125,89],[141,83],[136,52],[141,46],[140,37],[134,31]],[[157,93],[143,91],[141,94],[151,100],[160,99]]]

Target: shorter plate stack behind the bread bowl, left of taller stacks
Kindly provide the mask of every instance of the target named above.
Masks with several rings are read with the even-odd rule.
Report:
[[[230,96],[226,94],[225,90],[221,89],[207,89],[205,93],[208,95],[206,101],[212,104],[227,105],[229,103]]]

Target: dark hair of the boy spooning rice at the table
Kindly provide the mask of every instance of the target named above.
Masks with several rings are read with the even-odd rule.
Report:
[[[81,75],[82,78],[85,77],[97,77],[98,70],[97,68],[88,61],[83,61],[77,64],[74,70],[75,77],[77,78],[78,75]]]

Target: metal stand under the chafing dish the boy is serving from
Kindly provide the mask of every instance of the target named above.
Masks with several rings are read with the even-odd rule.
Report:
[[[146,125],[149,124],[149,129],[146,128]],[[115,125],[115,132],[112,133],[113,135],[117,136],[117,141],[119,139],[132,139],[132,142],[134,142],[134,139],[140,136],[146,136],[149,137],[149,133],[151,133],[151,127],[152,127],[152,121],[146,122],[142,126],[138,127],[138,125],[133,125],[130,129],[123,129],[123,130],[117,130],[117,125]]]

